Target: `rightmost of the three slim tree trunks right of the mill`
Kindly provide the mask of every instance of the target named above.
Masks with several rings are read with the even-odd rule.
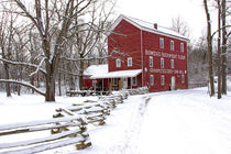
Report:
[[[226,0],[222,0],[222,55],[221,55],[221,94],[227,95],[227,29],[226,29]]]

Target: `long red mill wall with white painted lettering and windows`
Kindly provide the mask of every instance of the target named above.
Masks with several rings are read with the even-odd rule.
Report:
[[[163,36],[150,32],[142,32],[143,38],[143,62],[144,68],[144,85],[150,86],[150,91],[169,90],[172,76],[175,76],[176,89],[188,88],[187,77],[187,42],[178,38]],[[160,37],[164,38],[164,48],[160,48]],[[174,41],[174,51],[170,51],[170,41]],[[184,43],[184,53],[180,52],[180,43]],[[146,51],[151,51],[146,54]],[[168,54],[163,55],[164,54]],[[150,56],[153,56],[153,67],[150,67]],[[182,59],[184,57],[184,59]],[[164,68],[161,68],[161,58],[164,58]],[[170,59],[174,59],[174,68],[170,68]],[[152,70],[154,69],[154,72]],[[164,72],[163,72],[164,70]],[[154,76],[154,85],[150,85],[150,75]],[[165,76],[164,86],[161,85],[161,76]],[[182,82],[182,75],[185,75],[185,82]]]

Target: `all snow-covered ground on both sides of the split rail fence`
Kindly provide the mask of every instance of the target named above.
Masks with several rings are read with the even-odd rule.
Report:
[[[58,107],[97,100],[57,97],[57,102],[45,103],[40,96],[2,96],[0,124],[50,119]],[[206,88],[130,96],[106,125],[88,132],[92,146],[73,154],[230,154],[231,94],[221,100],[210,98]]]

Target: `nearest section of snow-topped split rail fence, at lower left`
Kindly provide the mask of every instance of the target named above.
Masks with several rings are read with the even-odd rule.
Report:
[[[0,141],[4,142],[0,143],[0,153],[37,153],[70,144],[75,144],[76,148],[85,148],[91,143],[84,124],[85,121],[81,117],[72,116],[0,125]],[[41,133],[42,131],[43,133]],[[41,135],[44,136],[41,138]],[[34,139],[34,136],[40,138]]]

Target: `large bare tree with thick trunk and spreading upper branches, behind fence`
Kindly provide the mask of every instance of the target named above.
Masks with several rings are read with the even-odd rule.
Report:
[[[73,19],[90,7],[94,0],[35,0],[32,6],[34,9],[30,9],[20,0],[12,1],[20,9],[14,12],[30,20],[38,33],[43,58],[33,74],[41,70],[43,64],[45,65],[43,72],[46,81],[45,100],[55,101],[55,79],[70,24]],[[54,33],[57,34],[56,37],[53,37]]]

